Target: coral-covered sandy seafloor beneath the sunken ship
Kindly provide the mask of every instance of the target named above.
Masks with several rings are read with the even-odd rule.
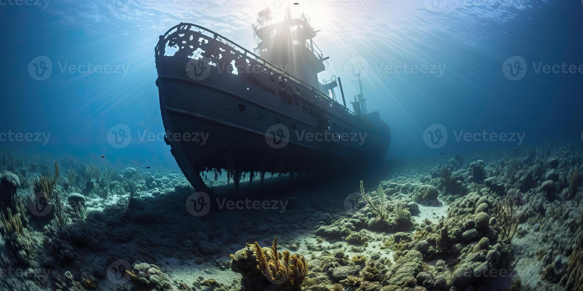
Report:
[[[55,159],[52,210],[41,214],[35,180],[54,179]],[[523,147],[340,179],[275,177],[261,194],[247,182],[225,190],[223,176],[201,215],[181,173],[4,151],[0,289],[291,290],[245,249],[276,236],[279,251],[303,256],[302,290],[570,290],[581,272],[570,261],[581,251],[581,161],[571,147]],[[246,199],[269,209],[216,209]]]

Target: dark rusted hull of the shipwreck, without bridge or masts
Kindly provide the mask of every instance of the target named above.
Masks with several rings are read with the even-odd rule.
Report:
[[[178,49],[174,55],[165,53],[163,45],[172,47],[173,40],[180,43],[185,32],[192,31],[191,25],[176,28],[162,36],[157,46],[156,83],[167,143],[196,190],[209,191],[202,181],[202,171],[226,170],[238,183],[244,173],[262,178],[269,172],[355,168],[380,161],[387,153],[388,126],[350,115],[338,103],[314,94],[315,90],[310,90],[313,88],[300,87],[292,81],[293,76],[266,69],[265,63],[247,58],[238,67],[230,59],[216,59],[209,62],[215,66],[204,68],[208,72],[202,77],[193,75],[188,72],[193,63],[190,52],[179,54]],[[209,58],[219,55],[217,52],[227,55],[226,49],[233,48],[213,47],[224,45],[217,34],[192,33],[195,37],[187,37],[196,40],[192,49],[208,40],[205,52]],[[228,64],[240,72],[225,70]],[[247,70],[259,65],[262,69]],[[318,104],[321,102],[326,107]]]

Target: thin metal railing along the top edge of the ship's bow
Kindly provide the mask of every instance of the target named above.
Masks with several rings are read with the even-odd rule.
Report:
[[[349,116],[352,115],[356,118],[360,118],[363,121],[370,123],[370,121],[368,121],[366,118],[363,118],[363,116],[356,115],[356,113],[350,111],[350,109],[348,109],[344,105],[339,104],[338,102],[332,100],[332,98],[330,98],[328,95],[322,93],[320,90],[318,90],[318,88],[310,86],[310,84],[305,83],[304,81],[298,79],[297,77],[291,75],[290,73],[287,73],[285,70],[280,69],[278,66],[275,66],[272,63],[265,61],[265,59],[262,59],[260,56],[258,56],[256,54],[248,51],[247,49],[241,47],[236,42],[229,40],[229,38],[223,37],[220,34],[216,33],[215,31],[205,29],[205,27],[202,27],[202,26],[199,26],[196,24],[180,23],[180,24],[172,27],[170,30],[166,31],[166,34],[164,34],[163,36],[160,37],[160,41],[158,42],[158,44],[154,48],[154,54],[156,54],[155,55],[156,68],[158,67],[160,45],[166,45],[167,37],[170,36],[171,34],[177,32],[178,30],[185,30],[185,29],[192,30],[193,27],[195,28],[195,30],[193,30],[193,31],[196,31],[196,32],[201,33],[201,34],[208,36],[208,37],[212,37],[215,40],[222,42],[223,44],[229,45],[229,47],[236,49],[238,52],[240,52],[241,54],[244,54],[248,58],[254,59],[256,62],[261,63],[262,65],[266,66],[266,68],[269,68],[275,72],[278,72],[279,74],[282,74],[283,76],[285,76],[288,80],[294,81],[295,83],[307,88],[308,90],[313,91],[319,97],[324,98],[324,100],[327,100],[328,102],[330,102],[331,106],[332,106],[332,104],[338,105]]]

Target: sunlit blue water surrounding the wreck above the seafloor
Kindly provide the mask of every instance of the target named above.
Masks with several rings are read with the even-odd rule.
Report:
[[[9,4],[0,6],[0,132],[51,134],[45,145],[2,141],[0,147],[96,160],[104,155],[108,162],[156,166],[175,164],[163,141],[139,139],[140,134],[164,132],[154,84],[153,48],[159,35],[175,24],[191,22],[252,49],[256,43],[251,24],[265,8],[264,1],[144,0],[125,2],[127,6],[83,0],[20,6],[0,2]],[[470,141],[457,141],[462,130],[524,134],[522,145],[581,145],[583,74],[535,72],[539,63],[583,65],[580,1],[484,5],[450,0],[441,6],[443,11],[430,11],[423,1],[311,3],[300,2],[291,9],[307,13],[312,26],[321,29],[314,41],[330,59],[329,72],[319,79],[341,77],[352,98],[359,87],[347,76],[346,61],[353,56],[366,60],[366,97],[392,130],[388,158],[519,144],[476,140],[473,135]],[[34,80],[29,74],[29,63],[37,56],[52,63],[46,80]],[[521,80],[509,80],[503,73],[512,56],[525,59],[527,70]],[[80,65],[89,63],[111,65],[115,73],[66,68],[82,69]],[[384,71],[386,65],[405,64],[443,70]],[[132,132],[132,142],[125,148],[112,147],[106,137],[120,123]],[[424,142],[427,127],[434,124],[443,125],[448,134],[442,147]]]

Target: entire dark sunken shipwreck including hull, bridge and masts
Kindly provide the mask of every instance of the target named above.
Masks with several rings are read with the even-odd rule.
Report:
[[[378,111],[366,108],[362,85],[350,111],[340,78],[318,81],[328,57],[312,41],[319,30],[310,19],[264,9],[258,22],[254,52],[189,23],[156,45],[166,143],[192,186],[212,191],[202,172],[216,179],[226,171],[238,186],[247,174],[263,180],[266,173],[356,169],[384,158],[391,133]],[[192,139],[195,133],[208,139]]]

